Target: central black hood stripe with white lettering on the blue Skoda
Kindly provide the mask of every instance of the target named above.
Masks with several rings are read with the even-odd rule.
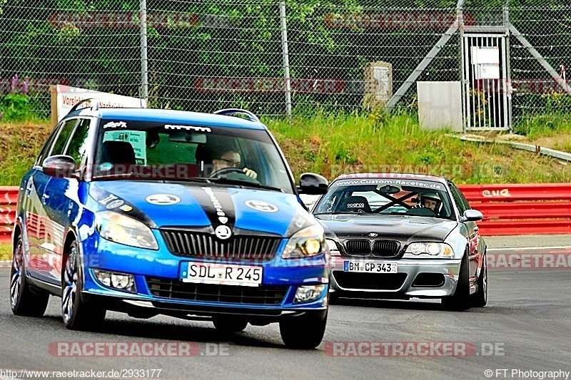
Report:
[[[233,227],[236,223],[234,202],[227,188],[188,186],[188,192],[196,199],[214,228],[219,225]]]

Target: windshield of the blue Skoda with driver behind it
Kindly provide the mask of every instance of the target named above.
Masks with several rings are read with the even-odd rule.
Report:
[[[191,180],[293,193],[266,130],[101,120],[94,179]]]

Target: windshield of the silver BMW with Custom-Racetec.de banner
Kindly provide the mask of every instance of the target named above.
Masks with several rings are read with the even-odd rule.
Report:
[[[392,178],[337,181],[320,198],[313,213],[455,218],[443,184]]]

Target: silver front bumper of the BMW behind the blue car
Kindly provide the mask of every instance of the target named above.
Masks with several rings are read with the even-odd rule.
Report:
[[[397,273],[344,272],[345,261],[396,262]],[[330,292],[355,298],[441,298],[453,295],[462,260],[357,259],[333,257]]]

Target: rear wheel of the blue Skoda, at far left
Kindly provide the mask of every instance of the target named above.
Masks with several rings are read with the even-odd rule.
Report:
[[[49,294],[34,292],[26,282],[24,242],[18,237],[10,271],[10,306],[12,312],[24,317],[41,317],[48,307]]]

